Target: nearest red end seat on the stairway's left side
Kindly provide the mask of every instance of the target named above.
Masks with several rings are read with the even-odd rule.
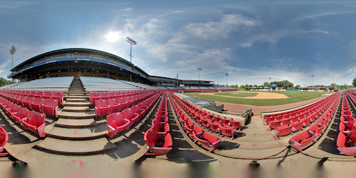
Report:
[[[22,124],[25,129],[29,129],[33,133],[38,134],[40,137],[44,137],[46,136],[46,133],[44,133],[44,126],[46,125],[44,123],[45,118],[46,115],[43,113],[30,111],[29,117],[22,119]]]

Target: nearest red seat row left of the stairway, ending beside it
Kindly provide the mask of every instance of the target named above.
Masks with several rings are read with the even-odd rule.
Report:
[[[29,109],[17,106],[3,97],[0,97],[0,106],[9,118],[19,123],[24,129],[28,129],[40,137],[46,136],[44,133],[46,115],[44,113],[29,111]]]

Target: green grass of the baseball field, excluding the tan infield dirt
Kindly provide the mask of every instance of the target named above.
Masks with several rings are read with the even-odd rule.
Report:
[[[251,106],[277,106],[282,104],[291,104],[296,102],[303,102],[305,100],[314,99],[316,97],[321,97],[323,94],[332,93],[332,92],[300,92],[300,91],[245,91],[245,92],[276,92],[287,95],[289,98],[286,99],[243,99],[243,98],[234,98],[234,97],[220,97],[219,95],[225,96],[236,96],[241,97],[241,95],[234,95],[229,92],[213,92],[213,94],[218,95],[200,95],[201,93],[185,93],[185,95],[200,97],[203,99],[209,99],[216,102],[225,102],[232,104],[246,104]]]

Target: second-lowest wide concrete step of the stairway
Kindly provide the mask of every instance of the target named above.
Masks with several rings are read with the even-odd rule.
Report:
[[[106,123],[102,122],[101,124],[87,128],[54,127],[47,135],[54,138],[85,140],[105,137],[106,133],[108,133]]]

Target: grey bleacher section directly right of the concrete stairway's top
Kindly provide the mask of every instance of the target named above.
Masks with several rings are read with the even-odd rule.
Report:
[[[99,78],[92,76],[81,76],[81,83],[88,92],[98,91],[128,91],[128,90],[155,90],[157,88],[141,83],[129,81],[116,81],[113,79]]]

